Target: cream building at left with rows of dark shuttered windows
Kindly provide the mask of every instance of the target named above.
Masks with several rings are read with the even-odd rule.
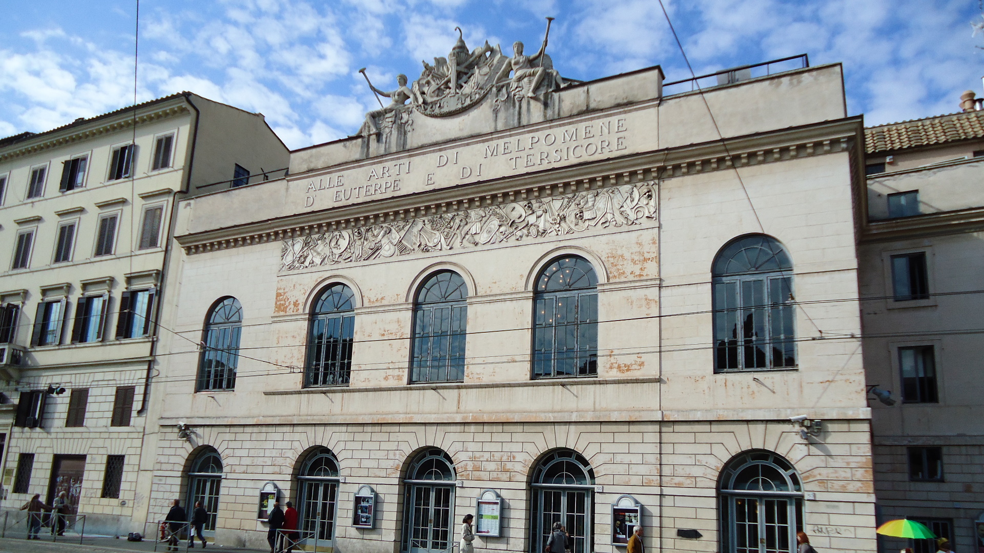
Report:
[[[17,510],[32,494],[50,503],[59,491],[90,533],[142,527],[175,202],[245,184],[244,169],[282,175],[287,159],[263,115],[190,92],[0,140],[8,535],[26,531]]]

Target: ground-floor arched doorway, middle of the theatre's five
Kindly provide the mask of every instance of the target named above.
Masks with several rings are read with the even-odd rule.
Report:
[[[403,480],[403,551],[436,553],[454,542],[455,480],[454,461],[439,449],[424,450],[410,463]]]

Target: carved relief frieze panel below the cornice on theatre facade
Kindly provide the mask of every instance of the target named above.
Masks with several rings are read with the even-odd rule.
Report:
[[[646,181],[425,215],[283,241],[281,271],[563,236],[656,218],[656,184]]]

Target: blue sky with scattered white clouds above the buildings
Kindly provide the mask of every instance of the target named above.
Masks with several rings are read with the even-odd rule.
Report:
[[[698,74],[808,53],[844,64],[868,125],[950,113],[981,95],[980,0],[664,0]],[[0,137],[133,102],[135,0],[10,2],[0,34]],[[93,8],[97,6],[97,8]],[[353,134],[377,87],[419,75],[464,30],[548,52],[588,80],[660,64],[689,77],[656,0],[144,0],[138,101],[191,91],[260,111],[290,148]]]

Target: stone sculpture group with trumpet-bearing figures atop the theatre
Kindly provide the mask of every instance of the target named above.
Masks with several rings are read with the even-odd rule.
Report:
[[[422,62],[420,77],[409,86],[405,75],[397,77],[398,87],[394,91],[381,91],[369,83],[373,92],[391,98],[391,102],[383,105],[380,101],[380,109],[366,113],[360,134],[373,136],[381,132],[381,127],[385,130],[397,122],[406,124],[413,111],[429,117],[455,115],[478,103],[492,90],[496,91],[496,101],[502,102],[510,96],[523,101],[564,87],[564,80],[545,53],[552,21],[553,18],[547,18],[543,44],[530,56],[523,54],[523,42],[519,40],[513,43],[512,57],[504,55],[498,45],[492,46],[488,40],[469,50],[461,29],[456,27],[458,41],[448,57],[434,58],[433,65]],[[359,72],[365,76],[365,68]]]

